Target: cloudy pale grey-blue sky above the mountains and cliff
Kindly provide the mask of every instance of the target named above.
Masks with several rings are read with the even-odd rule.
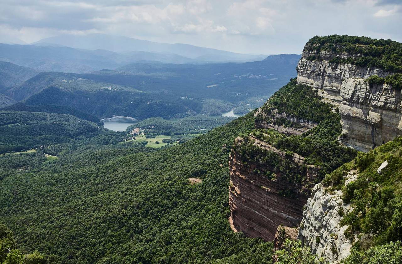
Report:
[[[300,54],[313,36],[402,42],[402,0],[0,0],[0,42],[103,33],[248,54]]]

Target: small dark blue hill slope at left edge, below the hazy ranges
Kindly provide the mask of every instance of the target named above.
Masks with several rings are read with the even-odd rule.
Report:
[[[0,61],[0,90],[20,85],[38,73],[39,71],[28,67]]]

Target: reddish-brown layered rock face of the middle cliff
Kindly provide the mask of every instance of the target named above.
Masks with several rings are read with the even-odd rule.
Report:
[[[273,155],[274,159],[286,160],[294,165],[299,181],[287,178],[280,166],[262,161],[250,162],[239,151],[244,139],[237,138],[230,155],[229,205],[232,229],[242,231],[249,237],[272,241],[279,225],[295,227],[302,218],[302,208],[314,185],[317,168],[304,165],[304,157],[295,153],[289,156],[264,141],[248,139],[255,147],[253,155]],[[268,153],[268,154],[267,154]],[[268,175],[268,176],[267,176]]]

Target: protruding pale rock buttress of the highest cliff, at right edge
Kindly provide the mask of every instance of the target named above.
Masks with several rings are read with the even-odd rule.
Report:
[[[401,91],[349,78],[343,81],[340,95],[340,141],[345,145],[368,151],[402,135]]]

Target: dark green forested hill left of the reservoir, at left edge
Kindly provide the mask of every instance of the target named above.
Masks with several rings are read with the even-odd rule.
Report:
[[[0,154],[41,148],[58,155],[73,145],[105,137],[109,138],[107,142],[115,139],[117,143],[125,134],[111,134],[96,123],[72,115],[0,111]]]

